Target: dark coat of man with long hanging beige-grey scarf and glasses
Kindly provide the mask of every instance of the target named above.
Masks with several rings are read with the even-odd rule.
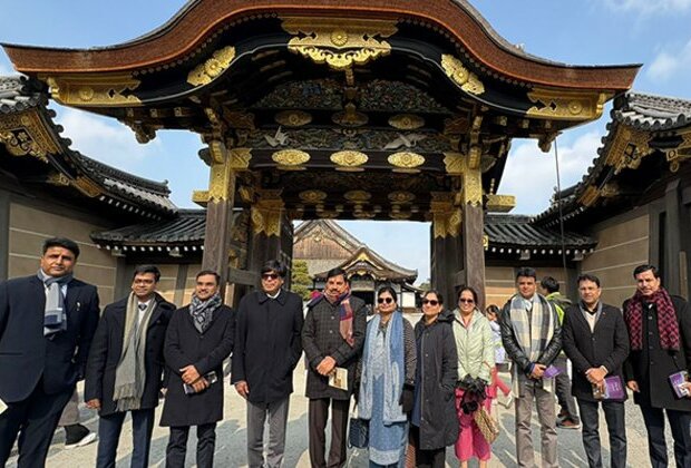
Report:
[[[113,391],[115,389],[115,371],[123,354],[125,311],[128,300],[129,296],[106,306],[91,342],[84,400],[89,401],[98,398],[101,416],[116,412]],[[175,311],[175,305],[158,294],[155,295],[154,301],[156,301],[156,305],[146,330],[146,350],[144,351],[146,380],[140,409],[153,409],[158,406],[158,391],[162,387],[164,368],[163,343],[166,338],[168,321]]]

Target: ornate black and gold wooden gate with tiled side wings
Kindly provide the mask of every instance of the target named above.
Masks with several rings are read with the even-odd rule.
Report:
[[[194,0],[129,42],[4,51],[25,77],[0,80],[0,279],[32,273],[40,241],[61,234],[85,247],[80,273],[104,301],[147,261],[179,303],[198,267],[240,293],[264,261],[290,263],[294,221],[408,220],[431,224],[431,282],[447,295],[468,283],[500,302],[531,264],[565,283],[600,274],[616,302],[644,261],[688,294],[690,103],[631,92],[638,65],[527,55],[465,0]],[[50,98],[142,143],[199,134],[203,209],[71,149]],[[558,194],[565,235],[556,207],[506,214],[513,197],[495,187],[512,139],[547,150],[612,99],[593,166]],[[360,247],[342,265],[407,274]]]

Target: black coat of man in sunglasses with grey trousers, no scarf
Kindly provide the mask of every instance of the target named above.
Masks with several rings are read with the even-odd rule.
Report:
[[[281,290],[276,299],[255,291],[240,301],[231,383],[247,382],[253,403],[293,392],[293,369],[302,355],[302,299]]]

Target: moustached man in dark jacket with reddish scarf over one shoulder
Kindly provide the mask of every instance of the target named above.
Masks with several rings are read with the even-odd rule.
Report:
[[[323,295],[308,304],[302,328],[302,348],[308,360],[306,397],[310,431],[310,461],[315,468],[337,468],[346,464],[348,407],[354,388],[354,373],[364,343],[364,302],[352,296],[342,269],[327,273]],[[334,369],[348,370],[348,390],[329,386]],[[331,450],[325,459],[324,429],[331,407]]]

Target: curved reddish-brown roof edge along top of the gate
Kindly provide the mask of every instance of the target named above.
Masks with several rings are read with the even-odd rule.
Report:
[[[500,38],[466,0],[192,0],[160,28],[116,46],[3,47],[16,69],[26,74],[134,71],[179,64],[228,22],[272,14],[426,22],[448,33],[480,67],[544,86],[622,91],[631,87],[640,67],[567,66],[525,53]]]

